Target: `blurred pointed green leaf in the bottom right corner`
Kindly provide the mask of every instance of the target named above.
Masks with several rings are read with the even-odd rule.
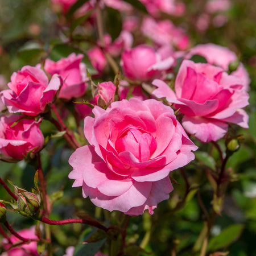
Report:
[[[208,250],[216,251],[223,247],[229,246],[241,236],[242,230],[243,225],[241,224],[228,226],[228,228],[222,230],[222,232],[217,237],[213,237],[210,240]]]

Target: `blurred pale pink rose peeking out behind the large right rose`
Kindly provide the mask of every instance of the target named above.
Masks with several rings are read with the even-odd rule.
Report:
[[[230,63],[237,61],[236,53],[230,51],[230,49],[226,47],[212,43],[198,44],[188,52],[185,59],[190,59],[193,55],[203,56],[209,64],[224,68],[225,71],[229,70]],[[242,63],[238,65],[237,70],[233,71],[231,75],[240,78],[243,84],[243,89],[249,90],[250,77]]]

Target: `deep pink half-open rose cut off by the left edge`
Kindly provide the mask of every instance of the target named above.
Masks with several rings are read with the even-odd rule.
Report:
[[[11,115],[0,119],[0,152],[14,159],[23,159],[27,152],[38,152],[44,145],[39,121]]]

